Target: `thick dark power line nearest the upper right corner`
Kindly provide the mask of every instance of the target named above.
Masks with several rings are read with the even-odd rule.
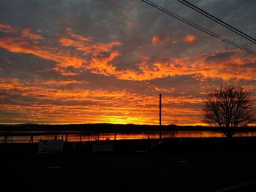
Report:
[[[249,40],[250,42],[253,42],[256,44],[255,38],[250,37],[247,34],[244,34],[244,32],[238,30],[237,28],[234,28],[233,26],[230,26],[229,24],[225,23],[223,20],[220,20],[219,18],[214,17],[214,15],[211,15],[210,13],[204,11],[203,9],[200,9],[199,7],[195,6],[194,4],[191,4],[186,0],[177,0],[177,1],[180,1],[182,4],[187,5],[187,7],[194,9],[196,12],[200,12],[200,14],[205,15],[207,18],[214,20],[215,22],[219,23],[220,25],[224,26],[225,28],[230,29],[231,31],[235,32],[236,34],[240,35],[241,37],[244,37],[245,39]]]

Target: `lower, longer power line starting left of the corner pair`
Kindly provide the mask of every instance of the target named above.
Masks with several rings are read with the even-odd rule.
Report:
[[[248,49],[246,49],[245,47],[241,47],[241,45],[238,45],[238,44],[236,44],[235,42],[232,42],[232,41],[230,41],[229,39],[226,39],[225,37],[219,36],[218,34],[215,34],[214,32],[209,31],[209,30],[206,29],[206,28],[203,28],[203,27],[201,27],[201,26],[198,26],[197,24],[192,23],[191,21],[189,21],[189,20],[187,20],[187,19],[185,19],[185,18],[182,18],[181,16],[176,15],[176,14],[173,13],[173,12],[170,12],[169,10],[167,10],[167,9],[165,9],[165,8],[163,8],[163,7],[160,7],[158,4],[154,4],[153,2],[148,1],[148,0],[141,0],[141,1],[144,1],[146,4],[149,4],[149,5],[151,5],[152,7],[155,7],[155,8],[157,8],[157,9],[159,9],[160,11],[167,13],[167,15],[170,15],[170,16],[172,16],[173,18],[176,18],[176,19],[178,19],[178,20],[183,21],[184,23],[187,23],[189,26],[193,26],[193,27],[199,29],[200,31],[205,32],[206,34],[211,35],[212,37],[216,37],[217,39],[220,39],[220,40],[222,40],[223,42],[226,42],[226,43],[228,43],[228,44],[230,44],[230,45],[233,45],[234,47],[237,47],[237,48],[239,48],[239,49],[241,49],[241,50],[244,50],[244,51],[246,51],[247,53],[251,53],[252,55],[256,55],[256,53],[253,52],[252,50],[248,50]]]

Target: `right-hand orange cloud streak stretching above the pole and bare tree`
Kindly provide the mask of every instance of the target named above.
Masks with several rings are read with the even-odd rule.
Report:
[[[232,55],[225,61],[210,61],[208,59],[229,52]],[[244,55],[237,50],[219,51],[212,55],[203,54],[184,58],[170,58],[169,61],[155,61],[153,64],[149,64],[148,60],[143,60],[139,64],[140,71],[119,71],[116,72],[115,76],[124,80],[152,80],[168,76],[174,77],[177,74],[201,74],[203,77],[219,77],[224,80],[230,80],[234,77],[252,80],[255,78],[255,70],[243,66],[255,62],[254,56]],[[243,73],[241,73],[241,67],[243,67]]]

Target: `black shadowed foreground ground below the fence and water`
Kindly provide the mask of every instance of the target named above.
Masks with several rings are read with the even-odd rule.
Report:
[[[1,145],[0,191],[256,191],[256,139],[114,141],[112,153],[66,143]],[[153,147],[152,147],[153,146]]]

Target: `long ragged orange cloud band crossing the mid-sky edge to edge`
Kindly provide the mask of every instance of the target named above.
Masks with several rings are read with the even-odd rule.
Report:
[[[26,30],[26,34],[31,34]],[[241,67],[245,64],[253,64],[255,58],[244,55],[237,50],[223,50],[212,54],[193,55],[184,58],[169,58],[165,61],[150,61],[149,57],[141,58],[137,64],[138,69],[119,70],[113,65],[118,56],[121,55],[116,50],[116,46],[121,46],[121,42],[99,43],[93,39],[77,35],[71,29],[67,29],[69,37],[61,37],[59,45],[39,45],[37,42],[27,41],[22,37],[1,38],[0,47],[11,52],[29,53],[41,58],[56,62],[56,71],[63,75],[75,75],[77,72],[69,72],[66,69],[72,66],[75,69],[89,69],[95,74],[117,77],[121,80],[153,80],[163,77],[174,77],[175,75],[200,74],[203,77],[219,77],[224,80],[236,77],[238,79],[251,80],[255,77],[255,70],[249,67]],[[34,37],[32,36],[31,39]],[[195,39],[195,37],[193,37]],[[192,40],[193,38],[190,38]],[[38,39],[35,37],[34,39]],[[189,39],[189,38],[188,38]],[[75,47],[75,50],[85,54],[92,54],[92,57],[83,58],[78,53],[70,52],[65,47]],[[104,54],[103,54],[104,53]],[[107,54],[105,54],[107,53]],[[219,55],[230,55],[227,58],[219,58]]]

